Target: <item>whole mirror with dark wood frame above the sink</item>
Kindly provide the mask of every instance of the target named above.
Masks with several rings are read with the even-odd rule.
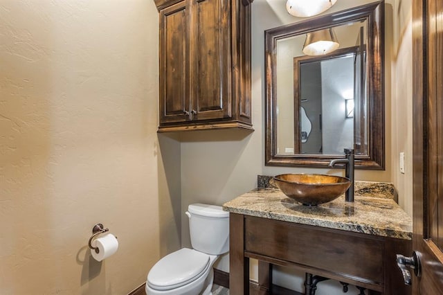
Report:
[[[383,5],[265,31],[266,166],[327,167],[353,147],[356,168],[384,169]],[[339,48],[305,55],[325,29]]]

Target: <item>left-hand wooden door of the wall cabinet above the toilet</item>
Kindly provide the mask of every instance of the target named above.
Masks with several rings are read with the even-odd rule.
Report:
[[[160,123],[190,120],[190,6],[160,11]]]

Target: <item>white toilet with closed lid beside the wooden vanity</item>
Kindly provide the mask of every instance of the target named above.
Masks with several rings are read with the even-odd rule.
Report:
[[[191,204],[186,215],[192,248],[170,253],[147,275],[148,295],[210,295],[213,265],[229,251],[229,212],[221,206]]]

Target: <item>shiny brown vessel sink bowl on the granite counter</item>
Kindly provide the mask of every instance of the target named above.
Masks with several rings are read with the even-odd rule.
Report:
[[[307,206],[331,202],[351,185],[350,179],[334,175],[282,174],[273,179],[284,195]]]

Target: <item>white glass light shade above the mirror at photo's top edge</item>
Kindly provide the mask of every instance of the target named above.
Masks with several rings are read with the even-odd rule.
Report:
[[[294,17],[311,17],[331,8],[337,0],[288,0],[286,10]]]

